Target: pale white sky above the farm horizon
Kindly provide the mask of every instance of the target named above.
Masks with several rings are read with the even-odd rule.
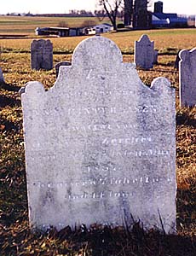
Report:
[[[97,0],[5,0],[1,4],[0,14],[65,14],[71,9],[95,10]],[[157,1],[152,1],[157,2]],[[163,0],[164,12],[178,15],[196,15],[196,0]],[[152,9],[153,10],[153,9]]]

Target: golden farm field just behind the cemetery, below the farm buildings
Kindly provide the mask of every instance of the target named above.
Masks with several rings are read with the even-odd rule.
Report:
[[[196,29],[165,29],[150,31],[112,32],[105,34],[112,39],[125,54],[133,54],[134,42],[139,40],[143,33],[147,33],[154,41],[155,49],[159,54],[176,55],[179,49],[192,49],[196,42]],[[40,37],[34,36],[35,39]],[[46,37],[44,37],[46,38]],[[49,38],[53,43],[55,53],[72,53],[73,49],[81,42],[83,37]],[[1,50],[30,52],[32,38],[0,39]]]

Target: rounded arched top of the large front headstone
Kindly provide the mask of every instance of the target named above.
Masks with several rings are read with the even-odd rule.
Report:
[[[112,40],[95,36],[82,41],[73,52],[72,65],[108,70],[123,62],[120,49]]]

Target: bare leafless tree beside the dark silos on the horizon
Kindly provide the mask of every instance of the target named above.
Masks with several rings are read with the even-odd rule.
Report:
[[[106,11],[113,29],[117,30],[118,10],[122,8],[124,0],[98,0],[98,4]]]

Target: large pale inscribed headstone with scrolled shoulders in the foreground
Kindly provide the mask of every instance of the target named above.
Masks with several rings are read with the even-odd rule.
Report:
[[[53,88],[21,93],[32,227],[176,227],[175,90],[142,84],[111,40],[78,44]]]

